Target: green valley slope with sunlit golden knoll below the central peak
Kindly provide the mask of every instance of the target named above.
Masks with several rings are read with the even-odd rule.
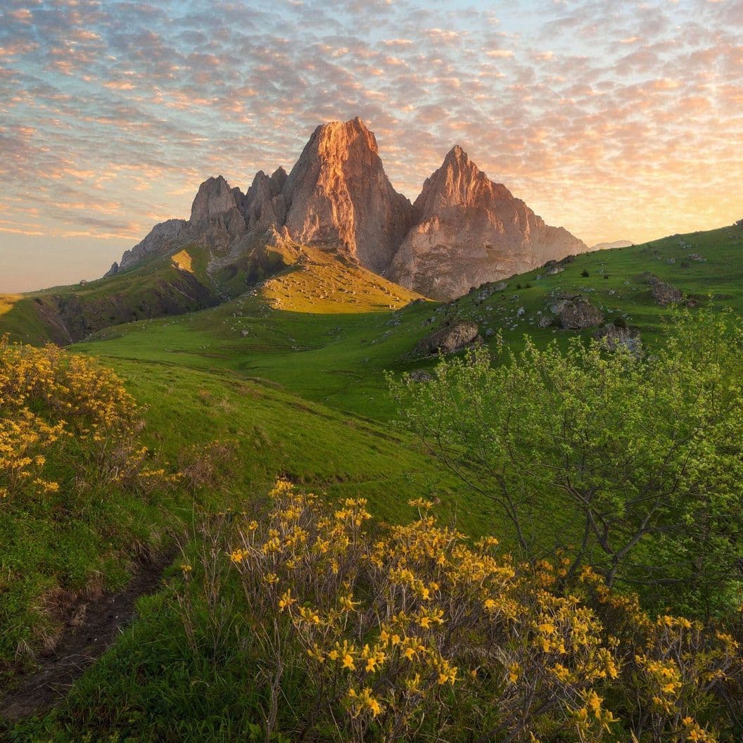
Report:
[[[181,317],[106,328],[76,350],[279,383],[308,400],[379,418],[389,415],[386,369],[426,333],[431,302],[360,267],[305,247],[275,248],[285,268],[248,293]]]

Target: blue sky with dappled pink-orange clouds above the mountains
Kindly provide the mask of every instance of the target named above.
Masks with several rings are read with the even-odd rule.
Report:
[[[360,116],[587,244],[743,218],[743,0],[0,0],[0,291],[100,276],[201,181]]]

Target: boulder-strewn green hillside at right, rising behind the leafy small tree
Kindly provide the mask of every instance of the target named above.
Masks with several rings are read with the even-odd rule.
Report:
[[[585,275],[584,275],[585,274]],[[581,294],[603,311],[606,322],[621,317],[637,325],[643,342],[651,343],[662,332],[670,308],[658,305],[646,283],[654,274],[681,290],[698,305],[743,312],[743,227],[722,227],[703,233],[673,235],[632,247],[598,250],[576,256],[564,270],[549,275],[544,269],[513,276],[456,300],[438,311],[442,318],[474,319],[482,330],[493,328],[509,343],[523,334],[538,342],[568,333],[539,328],[560,292]],[[491,293],[501,283],[505,287]],[[484,291],[482,291],[484,290]],[[519,316],[519,308],[524,312]],[[583,331],[589,336],[591,331]]]

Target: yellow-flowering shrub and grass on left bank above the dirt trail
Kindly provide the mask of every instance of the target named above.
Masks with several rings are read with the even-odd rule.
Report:
[[[51,648],[81,594],[126,580],[122,553],[153,548],[135,519],[173,477],[142,425],[91,358],[0,340],[0,664]]]

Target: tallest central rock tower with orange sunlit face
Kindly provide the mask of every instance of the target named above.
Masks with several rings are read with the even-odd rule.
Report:
[[[412,224],[410,202],[392,188],[377,140],[358,117],[315,129],[283,195],[293,239],[337,245],[377,273]]]

